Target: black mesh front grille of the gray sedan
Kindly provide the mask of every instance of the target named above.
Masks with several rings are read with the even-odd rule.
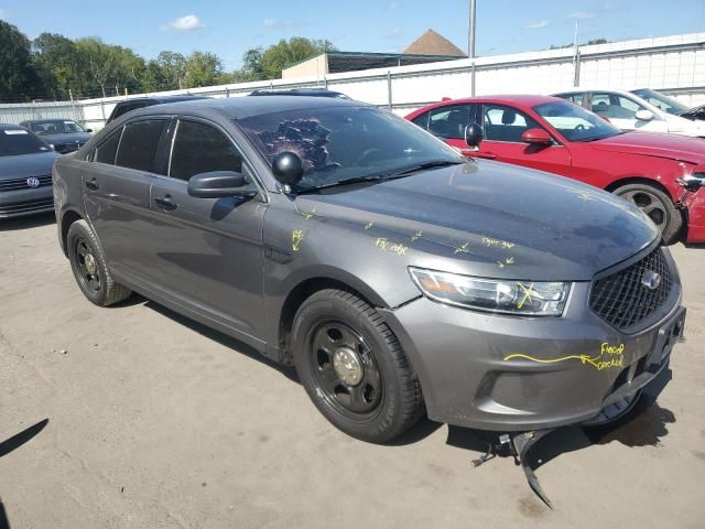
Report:
[[[649,271],[661,276],[654,289],[642,284]],[[673,272],[661,248],[616,273],[594,281],[590,309],[620,331],[633,327],[655,313],[673,288]]]

